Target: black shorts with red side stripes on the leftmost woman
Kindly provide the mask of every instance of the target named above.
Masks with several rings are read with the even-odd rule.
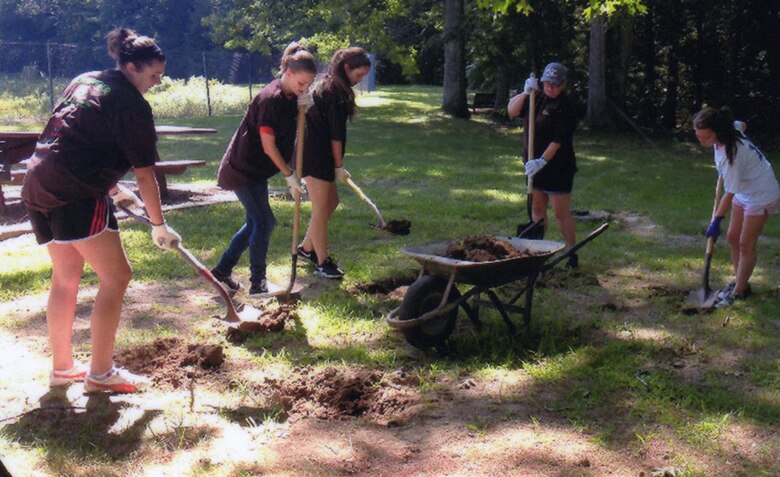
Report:
[[[70,202],[48,212],[30,211],[35,239],[50,242],[76,242],[100,235],[106,230],[119,231],[108,196],[89,197]]]

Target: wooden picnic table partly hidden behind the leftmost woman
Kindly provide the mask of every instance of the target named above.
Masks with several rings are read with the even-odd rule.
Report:
[[[213,128],[198,128],[189,126],[155,126],[159,135],[185,135],[185,134],[214,134]],[[23,169],[12,171],[12,167],[23,161],[35,152],[35,144],[38,141],[40,131],[0,131],[0,215],[5,214],[5,196],[3,184],[19,185],[24,181]],[[190,167],[198,167],[206,164],[203,160],[180,159],[175,161],[160,161],[154,166],[157,182],[160,185],[160,195],[168,197],[168,180],[166,175],[183,174]]]

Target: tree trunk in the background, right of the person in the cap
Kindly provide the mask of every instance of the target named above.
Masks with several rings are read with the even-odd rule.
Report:
[[[606,26],[603,15],[590,22],[590,53],[588,55],[588,111],[585,123],[591,128],[609,124],[606,85]]]

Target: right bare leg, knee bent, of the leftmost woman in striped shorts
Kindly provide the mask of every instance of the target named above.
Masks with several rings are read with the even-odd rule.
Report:
[[[84,258],[100,280],[95,305],[92,308],[92,374],[102,374],[113,365],[114,343],[122,299],[130,283],[132,270],[127,261],[119,234],[104,232],[96,237],[76,242],[73,247]]]

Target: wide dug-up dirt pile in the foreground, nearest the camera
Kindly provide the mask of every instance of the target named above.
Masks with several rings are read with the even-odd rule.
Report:
[[[417,408],[419,378],[404,371],[311,367],[266,378],[261,392],[290,417],[336,420],[362,416],[382,425],[403,422]]]

